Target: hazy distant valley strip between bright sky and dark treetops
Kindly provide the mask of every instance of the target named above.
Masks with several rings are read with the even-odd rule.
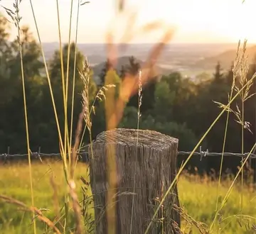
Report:
[[[230,68],[235,59],[237,43],[230,44],[169,44],[166,45],[156,63],[156,70],[160,74],[179,71],[183,75],[195,76],[202,72],[214,72],[219,61],[224,70]],[[134,56],[143,63],[146,61],[154,44],[131,44],[118,54],[117,69],[127,64],[128,57]],[[58,50],[58,43],[43,43],[46,60],[53,57]],[[105,44],[78,44],[78,49],[85,55],[92,65],[95,75],[100,74],[104,62],[107,60]],[[247,45],[249,61],[256,55],[256,45]]]

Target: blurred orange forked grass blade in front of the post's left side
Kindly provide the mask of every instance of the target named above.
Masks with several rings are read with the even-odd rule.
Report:
[[[132,23],[136,20],[136,13],[133,13]],[[117,19],[115,18],[115,21]],[[114,23],[114,22],[113,22]],[[127,22],[127,26],[129,22]],[[129,25],[130,26],[130,25]],[[133,26],[133,25],[132,25]],[[140,29],[139,31],[145,32],[149,31],[152,28],[157,28],[156,26],[161,26],[159,23],[150,23],[144,28]],[[110,70],[112,70],[115,65],[117,64],[117,46],[114,45],[114,30],[112,29],[113,26],[111,25],[110,30],[107,32],[106,39],[107,39],[107,58],[110,61]],[[124,39],[131,40],[134,35],[134,30],[130,29],[126,30],[124,34]],[[144,66],[142,67],[142,79],[141,84],[143,85],[149,81],[149,74],[151,72],[152,67],[154,66],[157,57],[159,57],[161,50],[163,50],[164,45],[171,40],[173,36],[173,30],[170,27],[164,27],[164,36],[161,39],[160,43],[158,43],[151,53],[149,54],[148,59],[146,60]],[[111,79],[111,78],[110,78]],[[129,98],[137,92],[139,89],[139,81],[136,77],[127,74],[124,77],[124,80],[119,88],[119,97],[117,100],[114,98],[113,91],[107,91],[107,101],[105,103],[105,113],[106,113],[106,124],[107,130],[112,130],[117,127],[119,121],[122,118],[124,107],[127,104]],[[115,202],[114,202],[114,194],[115,188],[117,185],[117,176],[116,176],[116,162],[114,160],[115,152],[114,152],[114,145],[112,145],[111,149],[107,152],[107,165],[108,165],[108,180],[109,180],[109,189],[107,194],[107,202],[108,204],[113,204],[110,209],[107,211],[107,223],[108,223],[108,230],[109,233],[116,233],[116,213],[115,213]]]

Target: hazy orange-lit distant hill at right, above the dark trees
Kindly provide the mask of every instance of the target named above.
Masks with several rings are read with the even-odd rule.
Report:
[[[236,50],[227,50],[220,53],[219,55],[213,57],[206,57],[202,60],[198,60],[198,62],[196,62],[194,66],[201,67],[202,69],[210,69],[215,67],[215,65],[219,61],[220,65],[224,69],[229,69],[232,62],[235,60],[236,52]],[[248,62],[252,62],[256,55],[256,45],[247,48],[246,54],[248,55]]]

